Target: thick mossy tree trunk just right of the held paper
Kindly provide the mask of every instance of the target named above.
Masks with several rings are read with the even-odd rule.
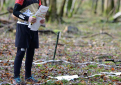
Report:
[[[57,19],[56,0],[50,0],[49,21],[54,22]]]

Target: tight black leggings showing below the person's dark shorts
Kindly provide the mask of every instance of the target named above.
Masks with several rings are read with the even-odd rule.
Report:
[[[14,78],[20,77],[20,69],[22,60],[24,58],[26,52],[26,60],[25,60],[25,79],[31,77],[31,68],[33,62],[35,48],[17,48],[17,54],[14,61]]]

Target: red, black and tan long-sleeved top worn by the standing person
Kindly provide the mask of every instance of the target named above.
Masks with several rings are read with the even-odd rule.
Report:
[[[19,24],[28,25],[29,16],[32,16],[41,5],[41,0],[16,0],[13,15],[18,17]]]

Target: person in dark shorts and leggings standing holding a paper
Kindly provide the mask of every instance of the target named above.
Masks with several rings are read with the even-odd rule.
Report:
[[[41,6],[41,0],[16,0],[13,15],[18,18],[16,27],[15,46],[17,53],[14,60],[13,84],[21,84],[20,69],[22,60],[26,52],[25,60],[25,81],[38,82],[31,74],[34,51],[39,48],[38,31],[32,31],[28,27],[29,23],[35,23],[36,17],[32,17]],[[45,20],[40,21],[44,23]]]

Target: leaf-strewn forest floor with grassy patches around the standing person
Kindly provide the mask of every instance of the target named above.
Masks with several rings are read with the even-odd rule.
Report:
[[[35,51],[32,67],[33,76],[39,80],[37,85],[120,85],[121,23],[105,22],[103,19],[84,12],[70,19],[64,18],[66,23],[63,24],[47,24],[45,29],[62,33],[55,56],[55,60],[59,61],[45,62],[53,59],[57,35],[39,33],[40,47]],[[75,26],[80,32],[64,33],[66,26]],[[16,56],[14,43],[14,33],[0,35],[0,85],[12,84]],[[106,59],[116,62],[107,62]],[[24,61],[25,58],[20,74],[23,82]],[[65,75],[78,75],[79,78],[70,81],[52,78]]]

